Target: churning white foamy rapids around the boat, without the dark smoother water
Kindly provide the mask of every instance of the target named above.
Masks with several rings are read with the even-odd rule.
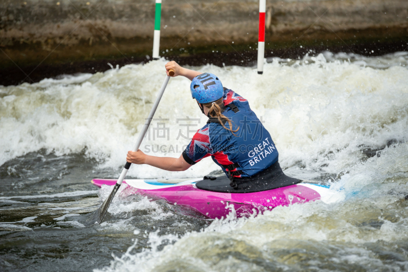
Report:
[[[41,149],[56,156],[83,152],[98,169],[118,175],[164,80],[165,63],[0,87],[0,165]],[[196,230],[166,204],[118,198],[111,216],[146,210],[153,225],[174,218],[186,231],[144,233],[127,219],[106,222],[101,229],[134,230],[129,241],[135,244],[115,254],[111,265],[94,268],[408,270],[407,65],[407,52],[381,57],[324,52],[301,60],[270,59],[262,76],[252,67],[187,67],[216,74],[224,87],[248,99],[265,122],[285,173],[330,182],[339,200],[216,220]],[[185,138],[205,125],[189,86],[186,78],[170,79],[142,151],[178,157],[189,143]],[[132,166],[128,176],[201,177],[216,170],[207,158],[185,172]],[[105,187],[99,194],[109,192]],[[149,246],[136,251],[142,236]]]

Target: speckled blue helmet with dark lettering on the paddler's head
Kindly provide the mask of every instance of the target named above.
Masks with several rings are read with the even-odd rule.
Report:
[[[195,87],[195,88],[194,88]],[[209,103],[224,95],[221,80],[215,74],[203,73],[193,78],[190,85],[191,96],[198,103]]]

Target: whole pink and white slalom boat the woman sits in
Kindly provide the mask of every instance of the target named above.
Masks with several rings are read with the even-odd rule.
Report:
[[[92,183],[101,187],[102,185],[113,186],[116,181],[115,179],[93,179]],[[197,182],[203,182],[203,178],[126,179],[123,180],[123,184],[127,186],[122,192],[126,195],[148,196],[152,200],[164,199],[171,204],[193,209],[211,219],[226,218],[232,211],[235,211],[237,217],[254,216],[277,206],[320,199],[326,202],[333,194],[328,186],[314,181],[301,181],[294,185],[254,193],[207,191],[197,188]]]

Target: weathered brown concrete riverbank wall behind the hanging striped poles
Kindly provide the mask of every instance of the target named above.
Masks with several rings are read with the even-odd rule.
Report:
[[[258,9],[258,1],[163,0],[161,55],[254,50]],[[2,0],[1,69],[147,60],[154,15],[152,0]],[[403,50],[407,36],[406,0],[267,1],[266,56],[299,45],[350,51],[376,42],[380,53],[381,44],[395,42]]]

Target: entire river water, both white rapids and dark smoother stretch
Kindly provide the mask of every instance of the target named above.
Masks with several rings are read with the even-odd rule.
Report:
[[[408,52],[324,52],[217,74],[265,121],[287,175],[338,195],[235,220],[116,195],[100,225],[87,214],[109,195],[164,79],[165,60],[0,87],[0,269],[3,271],[408,270]],[[180,156],[206,122],[189,80],[171,78],[142,143]],[[132,166],[134,178],[201,177]],[[124,187],[122,185],[121,189]]]

